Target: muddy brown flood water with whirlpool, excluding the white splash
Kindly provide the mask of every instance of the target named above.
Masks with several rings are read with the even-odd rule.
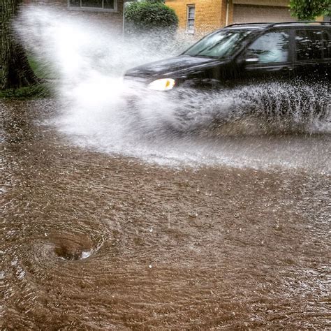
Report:
[[[160,167],[0,106],[2,330],[331,327],[328,172]]]

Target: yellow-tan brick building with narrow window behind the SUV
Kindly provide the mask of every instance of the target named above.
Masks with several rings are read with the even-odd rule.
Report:
[[[166,0],[186,33],[206,34],[231,23],[293,21],[288,0]]]

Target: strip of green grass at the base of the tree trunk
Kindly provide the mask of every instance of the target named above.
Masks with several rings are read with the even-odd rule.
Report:
[[[0,91],[0,98],[48,98],[52,96],[47,84],[31,85],[20,89],[5,89]]]

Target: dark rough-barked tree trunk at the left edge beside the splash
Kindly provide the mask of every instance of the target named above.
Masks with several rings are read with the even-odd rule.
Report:
[[[17,38],[12,21],[20,6],[21,0],[0,0],[1,13],[1,89],[17,89],[38,83],[24,47]]]

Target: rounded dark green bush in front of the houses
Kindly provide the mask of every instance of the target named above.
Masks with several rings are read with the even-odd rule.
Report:
[[[130,3],[124,10],[124,17],[129,34],[155,30],[173,32],[178,26],[175,10],[157,0]]]

